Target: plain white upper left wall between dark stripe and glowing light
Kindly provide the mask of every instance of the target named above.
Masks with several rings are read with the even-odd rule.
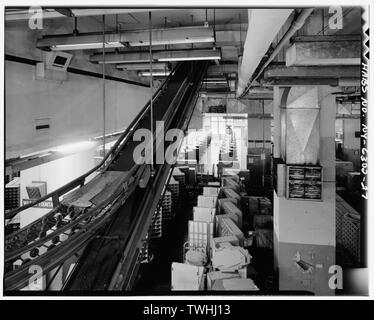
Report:
[[[102,80],[69,73],[62,83],[34,80],[35,66],[5,62],[6,158],[86,140],[103,132]],[[149,99],[149,89],[106,81],[106,132],[123,130]],[[35,119],[50,118],[47,132]]]

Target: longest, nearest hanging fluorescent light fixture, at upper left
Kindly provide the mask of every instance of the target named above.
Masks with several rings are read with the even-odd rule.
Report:
[[[183,27],[152,30],[152,46],[213,43],[214,31],[211,27]],[[39,49],[87,50],[102,49],[102,34],[46,36],[37,41]],[[105,35],[106,48],[149,46],[149,30],[124,31]]]

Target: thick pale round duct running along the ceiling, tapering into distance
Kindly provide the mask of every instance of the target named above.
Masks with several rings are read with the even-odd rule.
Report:
[[[240,96],[270,44],[292,13],[292,9],[249,9],[248,30],[239,65],[237,96]]]

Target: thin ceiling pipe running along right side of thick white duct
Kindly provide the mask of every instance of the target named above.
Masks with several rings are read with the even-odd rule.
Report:
[[[260,71],[255,76],[252,76],[249,79],[247,86],[245,87],[243,93],[239,96],[239,99],[242,99],[248,93],[248,90],[250,89],[252,83],[257,80],[257,78],[262,74],[262,72],[264,72],[265,68],[270,64],[270,62],[274,60],[274,58],[277,56],[279,51],[283,48],[285,44],[289,42],[289,40],[296,33],[296,31],[299,30],[304,25],[305,21],[311,15],[313,10],[314,10],[313,8],[301,10],[301,12],[292,22],[291,26],[288,28],[288,30],[286,31],[282,39],[278,42],[278,44],[274,48],[274,51],[271,53],[271,55],[266,60],[266,62],[262,65]]]

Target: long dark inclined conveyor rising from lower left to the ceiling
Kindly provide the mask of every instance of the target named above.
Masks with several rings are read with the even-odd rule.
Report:
[[[206,67],[206,62],[180,63],[154,94],[153,119],[165,122],[165,132],[187,129]],[[168,163],[155,165],[153,177],[144,183],[150,166],[133,160],[133,150],[140,143],[133,141],[133,134],[140,128],[150,129],[150,121],[148,103],[99,166],[38,201],[6,213],[6,218],[12,218],[46,199],[54,203],[51,212],[6,237],[6,291],[28,285],[30,266],[40,266],[47,275],[82,251],[64,290],[131,289],[142,241],[171,168]],[[171,143],[165,142],[165,150]],[[98,170],[101,173],[85,184]]]

